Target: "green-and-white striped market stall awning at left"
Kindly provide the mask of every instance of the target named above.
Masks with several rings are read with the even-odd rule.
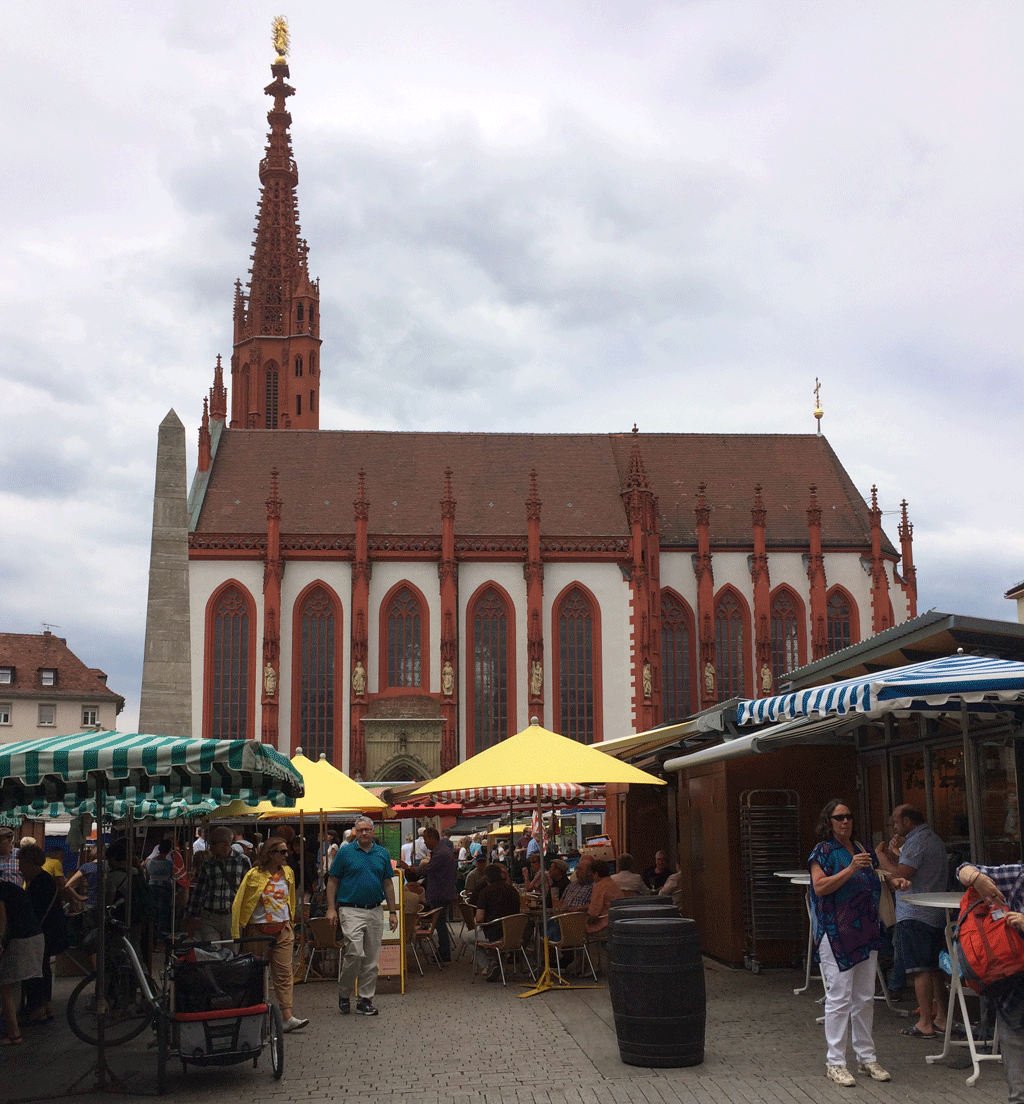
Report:
[[[287,807],[302,776],[256,740],[179,740],[145,733],[81,732],[0,744],[0,811],[26,817],[204,816],[233,800]]]

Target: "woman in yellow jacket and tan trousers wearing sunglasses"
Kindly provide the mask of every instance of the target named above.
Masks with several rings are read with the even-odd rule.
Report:
[[[270,959],[270,977],[285,1030],[296,1031],[309,1020],[299,1019],[291,1011],[295,875],[287,858],[288,845],[279,836],[271,836],[259,849],[255,866],[242,879],[235,894],[231,934],[243,941],[253,935],[276,936],[274,943],[257,943],[254,947]]]

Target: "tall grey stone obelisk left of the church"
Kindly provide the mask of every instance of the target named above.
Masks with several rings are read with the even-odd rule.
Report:
[[[139,732],[192,736],[185,427],[169,411],[157,438],[153,535]]]

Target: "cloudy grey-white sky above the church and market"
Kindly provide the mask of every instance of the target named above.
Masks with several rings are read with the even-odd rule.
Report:
[[[373,9],[371,11],[370,9]],[[138,714],[157,426],[245,277],[275,0],[19,6],[0,628]],[[324,428],[824,432],[920,608],[1024,578],[1024,6],[292,0]]]

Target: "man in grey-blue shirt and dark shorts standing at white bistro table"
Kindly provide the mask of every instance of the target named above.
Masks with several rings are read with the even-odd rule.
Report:
[[[910,883],[911,893],[943,893],[949,881],[948,860],[942,840],[925,824],[913,805],[900,805],[893,813],[893,828],[904,838],[899,854],[887,842],[875,849],[878,864],[894,878]],[[925,909],[896,894],[896,933],[893,940],[895,962],[914,980],[918,1021],[900,1034],[934,1039],[946,1031],[945,989],[939,972],[939,955],[946,949],[946,914],[941,909]],[[935,1018],[937,1017],[937,1018]]]

